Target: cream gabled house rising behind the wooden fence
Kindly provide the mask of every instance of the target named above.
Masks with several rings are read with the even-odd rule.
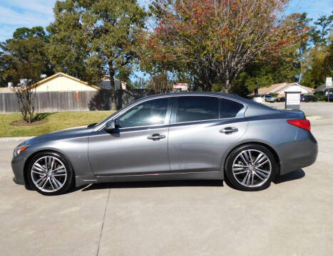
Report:
[[[88,82],[84,82],[61,72],[36,82],[33,87],[36,88],[36,92],[81,92],[101,90],[98,86],[89,85]]]

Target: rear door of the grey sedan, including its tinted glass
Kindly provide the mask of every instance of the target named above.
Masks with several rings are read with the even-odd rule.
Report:
[[[217,96],[174,97],[170,171],[220,171],[222,155],[247,129],[245,105]]]

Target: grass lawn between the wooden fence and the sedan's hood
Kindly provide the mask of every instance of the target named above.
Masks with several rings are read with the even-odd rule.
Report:
[[[114,111],[43,113],[39,115],[47,119],[48,122],[31,126],[11,125],[21,120],[21,114],[0,114],[0,137],[38,136],[59,129],[101,122],[113,112]]]

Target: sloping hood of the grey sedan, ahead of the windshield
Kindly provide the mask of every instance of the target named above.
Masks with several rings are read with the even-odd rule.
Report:
[[[63,129],[56,132],[50,132],[48,134],[43,134],[41,136],[37,136],[31,139],[27,139],[26,141],[22,142],[19,146],[25,146],[34,144],[34,142],[41,142],[41,141],[50,141],[53,139],[67,139],[70,137],[80,136],[86,133],[92,132],[92,128],[88,127],[76,127],[73,129]]]

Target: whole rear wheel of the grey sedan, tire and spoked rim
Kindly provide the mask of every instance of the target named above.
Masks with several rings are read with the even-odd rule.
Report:
[[[225,161],[225,174],[228,180],[234,188],[241,191],[261,191],[268,188],[275,178],[277,169],[277,162],[272,152],[260,144],[239,146]]]

